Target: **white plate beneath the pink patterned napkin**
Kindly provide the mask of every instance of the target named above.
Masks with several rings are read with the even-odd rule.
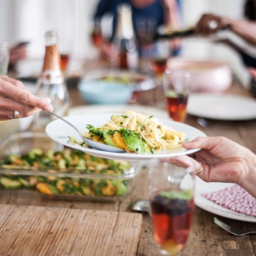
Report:
[[[203,208],[208,212],[217,214],[222,217],[242,221],[256,222],[256,218],[254,217],[233,211],[229,208],[223,208],[218,204],[208,200],[206,197],[201,196],[204,193],[218,191],[226,187],[232,187],[233,185],[233,183],[204,182],[199,177],[196,177],[195,204],[199,208]]]

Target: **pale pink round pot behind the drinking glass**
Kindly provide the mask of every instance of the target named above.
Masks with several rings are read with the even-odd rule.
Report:
[[[168,69],[190,72],[191,91],[194,92],[226,91],[232,82],[231,69],[223,62],[169,59]]]

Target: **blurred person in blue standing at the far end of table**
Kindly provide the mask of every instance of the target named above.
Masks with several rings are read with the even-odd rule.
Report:
[[[101,51],[106,56],[112,55],[112,39],[117,26],[117,6],[121,4],[130,4],[133,11],[133,28],[138,38],[140,19],[151,20],[155,22],[155,31],[157,27],[165,25],[169,28],[179,26],[180,0],[101,0],[97,6],[94,15],[95,23],[101,20],[105,14],[113,16],[112,37],[103,41]],[[155,33],[154,31],[154,33]],[[173,40],[171,45],[171,54],[176,56],[180,52],[180,40]],[[141,48],[142,54],[142,48]]]

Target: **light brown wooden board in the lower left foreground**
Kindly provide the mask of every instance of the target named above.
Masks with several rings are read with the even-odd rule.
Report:
[[[0,255],[135,255],[138,213],[0,205]]]

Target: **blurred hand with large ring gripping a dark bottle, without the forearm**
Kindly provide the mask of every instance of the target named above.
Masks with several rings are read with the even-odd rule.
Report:
[[[205,14],[197,22],[196,33],[197,35],[208,36],[218,32],[223,27],[228,27],[231,23],[232,20],[227,17]]]

